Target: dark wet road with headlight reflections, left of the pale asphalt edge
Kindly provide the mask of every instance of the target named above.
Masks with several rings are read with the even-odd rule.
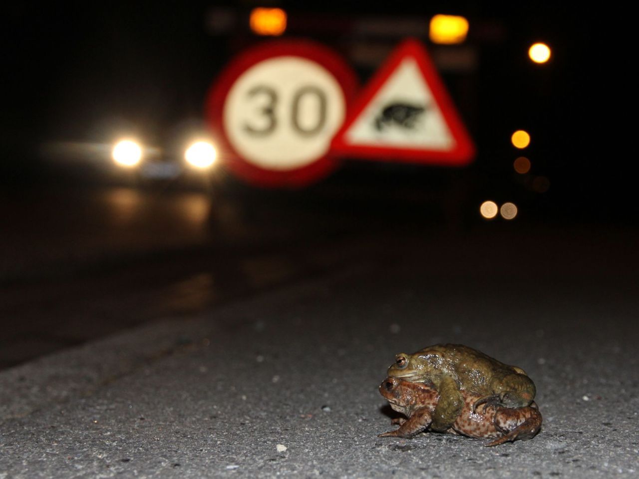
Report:
[[[332,219],[332,231],[273,214],[246,221],[201,191],[47,189],[23,197],[0,202],[8,226],[0,239],[0,368],[315,276],[374,243],[336,231]]]

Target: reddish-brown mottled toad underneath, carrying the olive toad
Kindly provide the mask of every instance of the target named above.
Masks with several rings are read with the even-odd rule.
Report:
[[[397,418],[392,424],[399,429],[384,432],[380,438],[411,438],[418,432],[429,429],[433,420],[439,394],[433,385],[411,383],[397,378],[386,378],[380,385],[380,394],[389,401],[390,407],[408,419]],[[530,439],[541,427],[541,413],[532,402],[524,408],[502,408],[485,405],[482,413],[473,412],[477,396],[463,392],[463,407],[451,427],[442,432],[463,434],[470,438],[494,439],[486,446],[496,446],[507,441]]]

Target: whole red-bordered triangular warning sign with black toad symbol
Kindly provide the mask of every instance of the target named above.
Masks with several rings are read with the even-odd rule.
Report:
[[[475,154],[426,48],[412,39],[364,87],[332,149],[357,158],[456,166]]]

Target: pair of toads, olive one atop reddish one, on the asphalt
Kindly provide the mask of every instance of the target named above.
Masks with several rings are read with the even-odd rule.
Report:
[[[541,427],[535,385],[523,369],[461,344],[398,354],[380,394],[408,418],[392,420],[399,429],[380,437],[411,438],[429,429],[494,439],[486,446],[495,446],[530,439]]]

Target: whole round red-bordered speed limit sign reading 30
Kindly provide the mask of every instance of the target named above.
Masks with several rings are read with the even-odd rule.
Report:
[[[330,143],[357,80],[331,50],[275,41],[236,57],[208,98],[233,172],[261,186],[302,186],[335,165]]]

